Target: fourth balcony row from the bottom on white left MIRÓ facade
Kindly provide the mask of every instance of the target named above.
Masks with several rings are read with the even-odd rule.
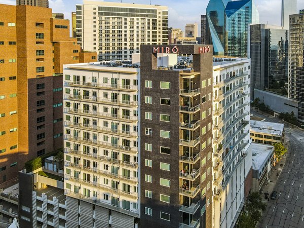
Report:
[[[96,159],[96,160],[106,162],[109,164],[118,164],[118,165],[125,166],[128,168],[134,168],[134,169],[138,168],[137,162],[128,162],[128,161],[123,161],[123,160],[119,160],[119,159],[112,159],[112,158],[100,156],[97,154],[85,153],[85,152],[79,151],[79,150],[65,148],[65,153],[72,154],[72,155],[78,155],[78,156],[89,158],[89,159]]]

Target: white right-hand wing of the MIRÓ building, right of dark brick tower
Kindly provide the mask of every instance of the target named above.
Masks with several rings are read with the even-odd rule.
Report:
[[[212,220],[214,227],[234,227],[252,183],[250,59],[215,60]]]

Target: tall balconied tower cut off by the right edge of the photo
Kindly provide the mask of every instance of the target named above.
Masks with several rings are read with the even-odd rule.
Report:
[[[289,16],[288,97],[298,101],[298,120],[304,122],[304,14]]]

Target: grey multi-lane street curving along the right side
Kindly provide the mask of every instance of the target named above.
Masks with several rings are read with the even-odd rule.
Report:
[[[281,122],[274,117],[252,113],[268,122]],[[260,228],[304,227],[304,131],[285,123],[285,141],[289,141],[286,162],[274,187],[278,197],[267,202],[267,209],[257,226]]]

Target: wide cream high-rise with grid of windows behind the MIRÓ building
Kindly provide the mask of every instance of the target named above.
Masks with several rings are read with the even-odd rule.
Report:
[[[98,59],[131,59],[143,44],[168,44],[168,7],[84,1],[76,5],[78,44]]]

